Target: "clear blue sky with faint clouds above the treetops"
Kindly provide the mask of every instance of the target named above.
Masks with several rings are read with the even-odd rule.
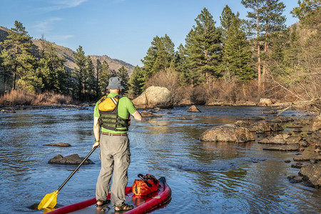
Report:
[[[240,18],[247,10],[241,0],[1,0],[0,26],[14,27],[20,21],[29,35],[86,55],[107,55],[133,66],[141,59],[155,36],[167,34],[178,47],[195,25],[195,18],[205,7],[220,26],[225,5]],[[282,0],[281,0],[282,1]],[[290,11],[297,0],[283,0],[286,24],[297,19]]]

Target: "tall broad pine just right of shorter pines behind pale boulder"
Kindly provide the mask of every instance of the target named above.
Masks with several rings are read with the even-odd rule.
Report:
[[[221,34],[215,28],[215,21],[208,9],[204,8],[195,19],[196,26],[190,30],[185,39],[186,66],[190,83],[210,84],[210,77],[218,77],[216,68],[221,58]]]

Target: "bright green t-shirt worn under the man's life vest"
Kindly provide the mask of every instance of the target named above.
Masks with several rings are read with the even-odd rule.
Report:
[[[107,97],[115,97],[117,96],[118,93],[109,93]],[[133,114],[136,111],[135,106],[133,105],[133,102],[123,96],[118,100],[118,116],[120,116],[123,119],[127,119],[129,114]],[[98,111],[98,102],[96,103],[96,106],[93,110],[93,116],[98,118],[100,116],[99,111]],[[101,131],[103,132],[108,132],[108,133],[126,133],[126,131],[114,131],[114,130],[109,130],[106,128],[101,127]]]

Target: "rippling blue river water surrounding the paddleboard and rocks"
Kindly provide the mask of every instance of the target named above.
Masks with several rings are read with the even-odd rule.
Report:
[[[161,118],[132,120],[128,185],[138,173],[164,176],[172,200],[153,213],[320,213],[321,190],[290,183],[295,153],[263,151],[252,143],[204,143],[203,131],[238,119],[261,116],[263,107],[198,106],[158,111]],[[283,116],[305,117],[285,111]],[[188,120],[182,120],[185,116]],[[57,154],[85,157],[93,144],[93,108],[24,110],[0,114],[0,213],[41,213],[29,207],[57,190],[76,165],[50,165]],[[71,147],[44,146],[70,143]],[[63,206],[93,198],[100,170],[98,150],[58,193]]]

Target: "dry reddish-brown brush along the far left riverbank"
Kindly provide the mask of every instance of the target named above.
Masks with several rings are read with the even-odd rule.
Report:
[[[70,104],[70,96],[63,96],[56,93],[27,93],[26,91],[13,90],[0,96],[0,106],[36,106],[36,105],[56,105]]]

